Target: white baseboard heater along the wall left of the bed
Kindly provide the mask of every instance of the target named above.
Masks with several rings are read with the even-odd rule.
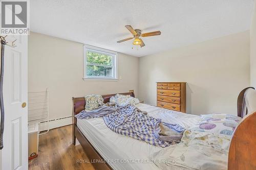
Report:
[[[55,118],[48,121],[40,122],[39,123],[39,132],[47,131],[48,127],[50,129],[59,128],[62,126],[67,126],[72,124],[72,116]]]

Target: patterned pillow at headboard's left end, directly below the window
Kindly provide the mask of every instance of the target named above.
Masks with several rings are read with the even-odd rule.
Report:
[[[93,110],[99,107],[103,103],[103,98],[99,94],[90,94],[85,96],[86,98],[86,110]]]

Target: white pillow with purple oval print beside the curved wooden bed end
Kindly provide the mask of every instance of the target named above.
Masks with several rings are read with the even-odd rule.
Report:
[[[231,114],[202,114],[199,123],[189,130],[232,135],[241,119]]]

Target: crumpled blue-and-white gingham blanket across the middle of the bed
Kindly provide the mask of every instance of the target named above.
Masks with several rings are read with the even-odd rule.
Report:
[[[184,132],[183,127],[177,124],[164,123],[159,118],[144,115],[131,105],[117,108],[102,106],[92,111],[83,110],[75,116],[80,119],[103,117],[105,125],[112,131],[163,148],[177,143]],[[161,137],[162,135],[159,135],[161,130],[159,124],[168,127],[176,135],[169,136],[168,140],[161,140],[163,138]]]

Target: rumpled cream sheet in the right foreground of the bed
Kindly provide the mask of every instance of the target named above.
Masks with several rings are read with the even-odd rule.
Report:
[[[161,169],[226,170],[231,136],[209,133],[183,133],[181,142],[151,156]]]

